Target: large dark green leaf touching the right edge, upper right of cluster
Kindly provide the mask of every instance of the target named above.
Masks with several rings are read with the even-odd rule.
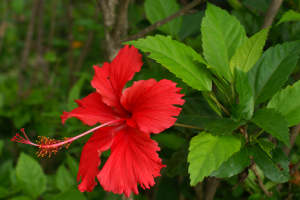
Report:
[[[247,73],[254,103],[271,98],[292,73],[300,53],[300,41],[270,47]]]

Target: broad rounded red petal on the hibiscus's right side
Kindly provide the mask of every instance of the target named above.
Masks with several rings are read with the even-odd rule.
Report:
[[[173,105],[182,105],[183,94],[181,88],[169,80],[156,82],[154,79],[134,82],[132,87],[123,92],[121,104],[131,112],[132,117],[127,124],[139,128],[146,133],[160,133],[171,127],[181,108]]]

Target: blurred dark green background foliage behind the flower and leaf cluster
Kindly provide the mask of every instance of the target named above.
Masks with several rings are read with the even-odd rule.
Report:
[[[162,2],[166,3],[165,7]],[[128,28],[124,37],[168,17],[189,2],[192,1],[131,0],[127,13]],[[260,30],[271,0],[209,2],[236,16],[250,37]],[[154,12],[153,6],[160,3],[162,7],[158,7]],[[205,8],[206,4],[201,3],[148,35],[171,35],[173,39],[184,42],[198,53],[202,53],[200,25]],[[278,43],[300,39],[300,21],[284,22],[275,26],[289,9],[299,12],[300,1],[283,1],[270,29],[265,49]],[[80,153],[88,136],[74,141],[69,149],[60,150],[50,158],[36,157],[37,148],[10,141],[20,128],[25,128],[32,140],[38,135],[55,139],[72,137],[90,129],[75,118],[62,125],[59,116],[62,111],[70,111],[77,106],[74,99],[83,98],[94,91],[90,85],[94,74],[93,65],[102,65],[103,62],[109,61],[104,40],[105,27],[96,0],[0,1],[0,199],[124,198],[122,195],[105,192],[99,184],[92,193],[81,193],[77,190]],[[182,93],[185,97],[201,96],[201,93],[188,87],[167,69],[149,59],[147,54],[143,54],[143,63],[142,70],[127,87],[136,80],[170,79],[183,88]],[[287,84],[292,84],[299,78],[298,63]],[[161,147],[159,155],[164,164],[167,164],[181,145],[181,152],[184,152],[185,142],[194,134],[182,130],[184,129],[170,128],[152,137]],[[290,154],[293,163],[300,159],[298,147],[300,138],[297,138]],[[103,153],[101,166],[109,154]],[[161,174],[150,190],[139,188],[140,194],[130,198],[202,199],[202,186],[207,182],[191,187],[189,177],[184,176],[187,173],[170,177],[164,168]],[[169,175],[172,173],[169,172]],[[237,180],[237,176],[222,179],[215,199],[247,199],[251,194],[254,195],[249,199],[259,199],[263,194],[251,171],[246,182],[232,190]],[[299,181],[281,186],[283,189],[280,193],[274,185],[266,185],[274,195],[264,199],[281,199],[291,191],[294,198],[300,198]]]

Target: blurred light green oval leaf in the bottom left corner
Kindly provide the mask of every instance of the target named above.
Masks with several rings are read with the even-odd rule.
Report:
[[[39,197],[46,189],[46,176],[40,164],[21,152],[16,166],[16,174],[25,195],[33,199]]]

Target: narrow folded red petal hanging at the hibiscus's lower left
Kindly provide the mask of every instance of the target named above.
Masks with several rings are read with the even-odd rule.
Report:
[[[98,129],[84,145],[77,175],[77,181],[81,177],[81,183],[78,185],[81,192],[92,192],[92,189],[97,185],[95,177],[100,171],[98,166],[101,163],[101,153],[111,147],[118,128],[118,126],[113,126]]]

